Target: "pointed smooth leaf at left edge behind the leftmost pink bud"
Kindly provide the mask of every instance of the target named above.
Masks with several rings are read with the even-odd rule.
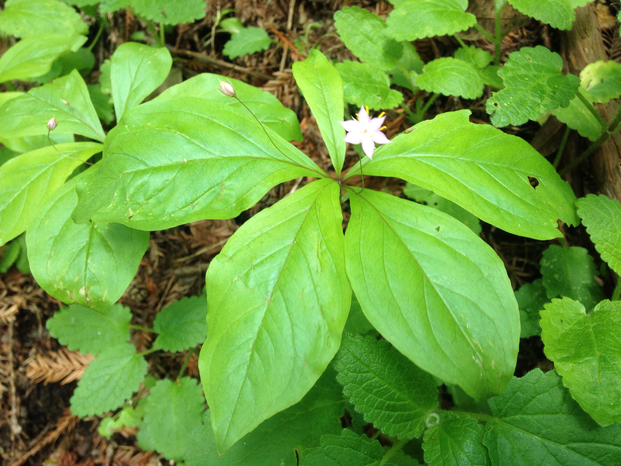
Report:
[[[106,135],[91,102],[86,83],[77,70],[30,89],[0,109],[0,138],[47,134],[47,122],[55,117],[55,132],[81,134],[103,141]]]

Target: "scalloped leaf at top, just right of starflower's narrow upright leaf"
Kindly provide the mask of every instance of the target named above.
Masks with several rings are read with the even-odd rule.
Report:
[[[345,47],[362,62],[382,70],[397,66],[404,45],[384,34],[386,21],[376,14],[357,6],[345,6],[335,12],[334,27]]]

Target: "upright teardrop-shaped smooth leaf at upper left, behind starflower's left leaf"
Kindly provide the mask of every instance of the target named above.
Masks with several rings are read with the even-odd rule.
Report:
[[[166,47],[125,42],[112,55],[112,99],[117,121],[164,82],[173,58]]]

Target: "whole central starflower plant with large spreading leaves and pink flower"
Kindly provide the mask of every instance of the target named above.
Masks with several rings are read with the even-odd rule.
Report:
[[[318,178],[245,222],[207,270],[199,369],[221,453],[314,385],[338,350],[352,290],[394,347],[474,398],[501,393],[517,357],[517,303],[494,250],[442,212],[348,186],[360,169],[342,173],[340,75],[317,50],[293,73],[332,176],[283,139],[281,124],[263,121],[264,130],[217,81],[219,96],[197,76],[127,110],[76,187],[75,222],[151,230],[232,218],[278,183]],[[243,101],[250,86],[233,85]],[[558,219],[577,223],[574,195],[545,158],[468,117],[448,112],[397,135],[364,158],[365,175],[416,183],[535,239],[560,237]],[[385,142],[374,134],[371,142]],[[342,189],[351,209],[344,235]]]

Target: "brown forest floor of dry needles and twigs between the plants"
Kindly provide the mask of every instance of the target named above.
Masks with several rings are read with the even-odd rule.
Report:
[[[2,3],[2,2],[0,2]],[[297,50],[296,39],[307,37],[308,43],[319,42],[319,48],[331,58],[356,60],[344,47],[333,26],[333,14],[343,6],[355,4],[386,17],[392,5],[384,0],[353,1],[299,0],[236,0],[207,2],[207,16],[194,24],[177,25],[166,32],[166,44],[171,48],[174,64],[173,73],[177,79],[184,79],[201,72],[219,73],[237,78],[273,93],[283,104],[296,112],[301,122],[304,140],[295,143],[320,167],[331,170],[331,163],[317,124],[308,106],[301,98],[292,77],[292,63],[304,58],[305,50]],[[471,7],[477,2],[471,2]],[[488,2],[490,3],[490,2]],[[218,10],[234,8],[235,14],[245,25],[267,30],[274,43],[265,52],[229,60],[222,55],[226,34],[217,35],[214,42],[205,40],[211,34],[214,16]],[[597,5],[602,40],[611,59],[621,57],[619,34],[615,30],[616,11],[609,4]],[[97,58],[95,71],[89,77],[97,82],[98,66],[132,34],[144,31],[146,25],[131,12],[118,11],[108,17],[110,27],[95,45]],[[520,47],[545,45],[555,52],[561,49],[560,33],[538,21],[522,21],[520,27],[510,32],[502,43],[502,61],[510,52]],[[309,25],[315,26],[309,27]],[[517,24],[517,23],[516,23]],[[91,25],[94,39],[97,26]],[[471,37],[470,40],[467,37]],[[464,35],[468,44],[494,52],[489,40]],[[433,58],[452,56],[458,47],[453,37],[435,37],[418,40],[416,48],[424,62]],[[188,53],[189,52],[189,53]],[[594,58],[595,61],[596,59]],[[174,81],[174,80],[173,80]],[[399,89],[406,96],[406,103],[412,106],[424,93],[412,94],[408,89]],[[430,107],[426,118],[446,111],[468,108],[473,112],[471,121],[489,124],[485,111],[485,100],[491,95],[486,86],[482,98],[466,101],[441,96]],[[388,111],[388,137],[411,126],[402,109]],[[532,142],[543,155],[552,155],[562,130],[542,129],[536,122],[522,127],[508,127],[507,131]],[[544,141],[542,143],[541,141]],[[556,141],[556,143],[555,143]],[[555,146],[556,144],[556,146]],[[576,144],[582,144],[578,141]],[[358,155],[350,150],[345,167],[358,162]],[[404,182],[392,178],[366,177],[366,187],[389,191],[402,196]],[[581,173],[580,186],[574,189],[592,192],[589,173]],[[274,187],[252,209],[231,220],[206,220],[152,232],[147,253],[140,263],[138,273],[120,302],[132,309],[132,324],[150,326],[158,311],[183,296],[199,295],[204,286],[204,276],[209,262],[230,235],[248,218],[263,208],[274,204],[290,191],[307,183],[306,179],[292,180]],[[345,212],[345,224],[348,216]],[[599,261],[599,256],[589,245],[585,232],[576,229],[563,230],[570,245],[588,247]],[[539,261],[549,241],[537,241],[518,237],[483,224],[481,237],[496,250],[502,258],[514,289],[530,283],[540,276]],[[553,241],[554,242],[554,241]],[[556,240],[558,242],[558,240]],[[1,254],[1,252],[0,252]],[[135,429],[125,428],[111,440],[97,434],[100,417],[79,419],[68,410],[69,399],[79,378],[88,365],[88,355],[79,355],[63,349],[57,340],[50,337],[45,322],[62,303],[47,295],[35,282],[32,275],[19,272],[12,267],[0,274],[0,457],[6,465],[18,466],[58,464],[73,465],[145,465],[158,464],[161,457],[152,452],[143,452],[135,443]],[[150,347],[148,332],[132,330],[132,340],[138,351]],[[522,340],[516,375],[521,376],[532,368],[549,370],[552,363],[543,355],[540,337]],[[148,358],[149,372],[161,377],[172,376],[181,368],[187,353],[171,355],[151,354]],[[189,375],[198,377],[197,358],[193,355],[188,363]],[[65,382],[65,383],[63,383]],[[66,383],[68,382],[68,383]],[[444,400],[450,406],[450,397]],[[163,460],[162,460],[163,461]]]

